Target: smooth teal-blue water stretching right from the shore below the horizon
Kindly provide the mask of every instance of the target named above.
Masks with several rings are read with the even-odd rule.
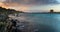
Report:
[[[33,22],[34,27],[38,29],[38,32],[60,32],[60,14],[22,13],[18,14],[15,18],[19,21]]]

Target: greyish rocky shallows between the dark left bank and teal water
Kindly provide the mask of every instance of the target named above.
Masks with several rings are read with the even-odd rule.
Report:
[[[17,14],[9,15],[10,20],[16,21],[17,32],[37,32],[38,29],[34,26],[33,22],[24,20],[22,16],[17,17]],[[21,18],[22,17],[22,18]],[[19,31],[18,31],[19,30]]]

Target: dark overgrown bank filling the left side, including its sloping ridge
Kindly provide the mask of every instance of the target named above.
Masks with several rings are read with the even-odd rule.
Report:
[[[0,7],[0,32],[14,32],[14,29],[12,29],[13,23],[12,21],[9,21],[9,17],[8,17],[9,14],[14,14],[14,13],[23,13],[23,12],[16,11],[14,9],[6,9]]]

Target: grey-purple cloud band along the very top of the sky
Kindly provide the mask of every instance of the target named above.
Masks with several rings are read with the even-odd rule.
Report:
[[[57,4],[57,0],[6,0],[6,2],[16,2],[19,4]]]

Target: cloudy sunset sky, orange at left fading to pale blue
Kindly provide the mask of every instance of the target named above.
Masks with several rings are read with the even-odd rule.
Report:
[[[24,12],[60,12],[60,0],[0,0],[0,6]]]

